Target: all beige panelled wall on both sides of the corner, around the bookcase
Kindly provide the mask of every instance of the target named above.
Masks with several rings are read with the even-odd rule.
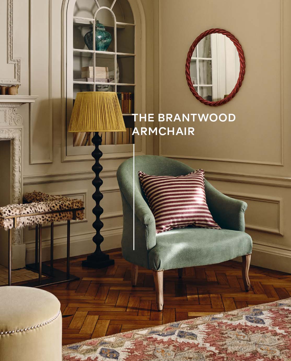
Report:
[[[71,227],[71,254],[77,255],[94,248],[91,241],[92,162],[61,162],[62,1],[41,3],[40,7],[36,0],[14,0],[13,56],[21,58],[19,92],[26,95],[30,90],[31,95],[39,95],[31,110],[28,105],[19,108],[24,120],[24,192],[36,189],[83,197],[88,222]],[[147,137],[146,152],[177,158],[193,168],[204,168],[215,187],[246,200],[249,204],[247,231],[254,242],[252,262],[291,271],[288,227],[291,85],[285,80],[291,76],[290,1],[140,0],[138,3],[146,19],[146,34],[142,34],[146,36],[146,69],[143,70],[146,92],[142,95],[146,99],[146,112],[236,115],[233,123],[195,123],[194,137]],[[6,0],[1,3],[1,13],[5,20]],[[1,34],[5,34],[6,26],[2,21]],[[232,32],[241,42],[246,57],[246,76],[241,90],[230,103],[216,109],[199,103],[185,81],[188,49],[196,36],[212,27]],[[5,36],[1,36],[0,45],[4,49],[0,55],[0,78],[12,77],[13,66],[6,64]],[[31,143],[30,127],[42,130],[35,133]],[[116,169],[122,161],[102,161],[103,249],[120,245],[122,206]],[[56,227],[57,257],[65,256],[65,232],[65,226]],[[48,237],[48,229],[44,229],[44,239]],[[26,230],[24,242],[27,259],[32,261],[33,231]],[[47,247],[45,242],[45,256],[48,256]]]

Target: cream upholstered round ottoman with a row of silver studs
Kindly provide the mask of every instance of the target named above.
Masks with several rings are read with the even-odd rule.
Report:
[[[58,299],[31,287],[0,287],[0,361],[61,361]]]

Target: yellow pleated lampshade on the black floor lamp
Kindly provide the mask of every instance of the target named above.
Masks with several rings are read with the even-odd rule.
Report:
[[[125,124],[115,92],[77,93],[69,132],[125,132]]]

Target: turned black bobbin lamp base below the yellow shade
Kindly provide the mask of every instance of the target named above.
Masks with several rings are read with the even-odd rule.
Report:
[[[96,206],[93,208],[92,212],[96,216],[96,220],[93,223],[93,228],[96,230],[96,235],[93,237],[93,242],[96,244],[96,250],[92,253],[92,255],[87,257],[87,260],[82,262],[82,266],[91,268],[105,268],[114,265],[114,260],[110,260],[109,255],[103,253],[100,248],[100,244],[104,239],[100,234],[100,230],[103,227],[103,223],[100,220],[100,216],[103,213],[103,209],[100,207],[100,201],[103,198],[103,195],[100,192],[100,187],[103,181],[99,177],[99,174],[103,169],[99,163],[99,159],[102,157],[102,152],[99,149],[101,142],[102,138],[99,136],[98,132],[95,132],[92,138],[92,143],[95,145],[95,149],[92,152],[92,156],[95,159],[95,164],[92,167],[92,170],[95,173],[95,178],[92,181],[92,184],[95,187],[95,192],[93,193],[92,198],[96,202]]]

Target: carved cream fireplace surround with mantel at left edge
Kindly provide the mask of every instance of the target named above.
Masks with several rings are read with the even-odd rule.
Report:
[[[11,142],[10,203],[22,202],[23,119],[17,108],[25,103],[34,103],[36,98],[31,95],[0,95],[0,140]],[[14,230],[12,234],[12,262],[13,269],[25,266],[25,244],[19,230]]]

